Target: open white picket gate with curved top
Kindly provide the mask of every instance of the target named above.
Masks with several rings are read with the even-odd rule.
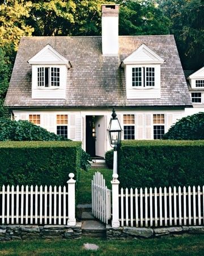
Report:
[[[92,214],[108,224],[111,218],[111,190],[105,185],[103,174],[95,172],[91,181]]]

